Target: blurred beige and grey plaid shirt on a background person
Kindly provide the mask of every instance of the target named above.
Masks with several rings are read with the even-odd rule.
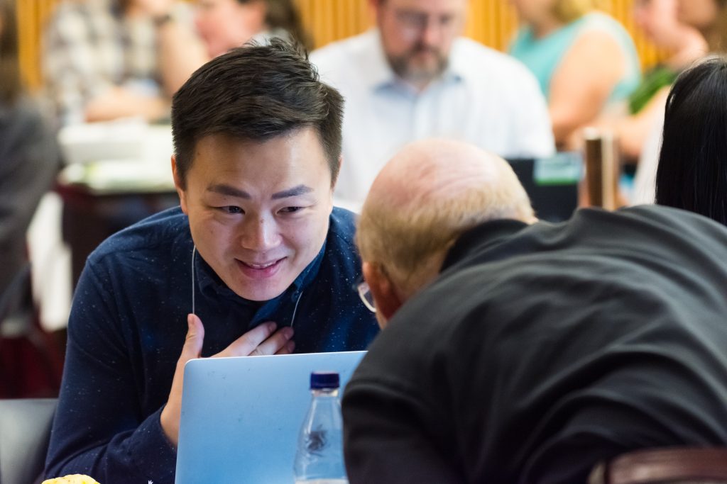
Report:
[[[87,102],[113,86],[158,95],[157,56],[153,22],[124,17],[116,0],[58,4],[45,31],[42,62],[60,122],[82,122]]]

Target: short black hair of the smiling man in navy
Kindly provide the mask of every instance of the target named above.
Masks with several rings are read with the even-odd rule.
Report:
[[[280,39],[230,50],[196,70],[172,99],[172,135],[182,188],[197,141],[212,134],[267,141],[315,128],[331,184],[340,168],[343,98],[318,78],[299,46]]]

